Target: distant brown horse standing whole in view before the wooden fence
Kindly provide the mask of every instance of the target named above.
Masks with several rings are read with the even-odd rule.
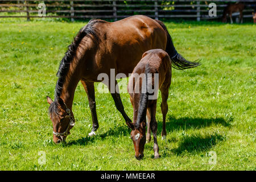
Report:
[[[239,21],[241,23],[243,23],[243,9],[245,9],[245,5],[243,5],[242,3],[236,3],[236,4],[233,4],[233,5],[226,6],[224,11],[223,11],[222,22],[223,23],[227,22],[226,14],[229,14],[230,22],[233,23],[232,13],[239,11],[240,12]]]

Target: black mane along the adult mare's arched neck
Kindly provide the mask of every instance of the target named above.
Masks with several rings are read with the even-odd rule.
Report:
[[[90,20],[85,27],[82,27],[80,29],[80,31],[75,36],[73,42],[68,46],[68,50],[65,53],[63,59],[60,61],[59,71],[56,74],[56,76],[59,77],[59,79],[57,80],[55,87],[55,101],[60,97],[65,77],[68,74],[69,64],[71,64],[72,60],[75,58],[76,51],[80,45],[81,40],[85,37],[95,38],[96,40],[98,40],[96,28],[93,27],[93,25],[98,21],[100,20]]]

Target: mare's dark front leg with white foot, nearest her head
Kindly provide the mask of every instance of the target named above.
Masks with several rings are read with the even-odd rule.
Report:
[[[85,82],[81,80],[82,85],[84,86],[85,92],[88,97],[90,113],[92,114],[93,129],[89,133],[89,137],[96,135],[95,131],[98,129],[98,118],[96,113],[96,102],[95,102],[95,90],[94,82]]]

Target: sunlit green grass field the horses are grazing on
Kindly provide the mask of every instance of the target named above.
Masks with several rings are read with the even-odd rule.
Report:
[[[165,22],[176,49],[202,65],[173,69],[166,141],[160,97],[156,114],[161,157],[154,159],[150,142],[139,161],[110,94],[96,92],[100,127],[88,137],[92,119],[81,83],[73,103],[76,126],[66,144],[52,142],[46,96],[53,98],[60,60],[86,23],[0,21],[0,170],[256,169],[255,25]],[[121,97],[132,118],[129,95]]]

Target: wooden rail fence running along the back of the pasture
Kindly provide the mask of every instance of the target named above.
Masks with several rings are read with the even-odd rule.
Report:
[[[228,3],[243,2],[243,18],[251,18],[255,7],[255,0],[229,1],[229,0],[19,0],[0,1],[0,18],[103,18],[121,19],[134,14],[143,14],[151,18],[188,18],[214,19],[220,18],[224,7]],[[40,3],[41,4],[39,6]],[[210,3],[216,3],[217,16],[209,16]],[[42,10],[45,5],[45,14]]]

